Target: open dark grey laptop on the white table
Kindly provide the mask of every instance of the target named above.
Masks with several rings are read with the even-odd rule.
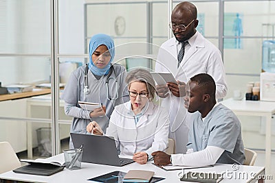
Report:
[[[115,140],[109,136],[71,133],[71,138],[75,148],[83,145],[82,162],[118,167],[134,162],[129,158],[118,157]]]

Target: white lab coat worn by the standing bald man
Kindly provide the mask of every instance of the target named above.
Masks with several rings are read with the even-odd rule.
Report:
[[[225,97],[227,86],[225,84],[225,70],[221,59],[221,52],[210,41],[196,32],[189,40],[189,49],[177,68],[177,40],[170,38],[162,44],[157,56],[155,71],[173,73],[176,80],[188,82],[190,77],[199,73],[208,73],[216,82],[216,98]],[[169,95],[162,101],[170,114],[169,138],[176,142],[176,153],[185,153],[188,143],[188,118],[190,113],[184,108],[183,97]]]

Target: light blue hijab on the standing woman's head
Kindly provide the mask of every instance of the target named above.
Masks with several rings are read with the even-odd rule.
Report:
[[[91,55],[96,51],[96,49],[100,45],[105,45],[111,55],[111,59],[109,64],[105,66],[103,69],[99,69],[97,66],[94,65],[93,60],[91,60]],[[111,62],[113,61],[113,58],[115,56],[115,46],[113,44],[113,39],[106,35],[106,34],[96,34],[93,37],[91,37],[90,43],[89,43],[89,69],[94,75],[107,75],[109,73]]]

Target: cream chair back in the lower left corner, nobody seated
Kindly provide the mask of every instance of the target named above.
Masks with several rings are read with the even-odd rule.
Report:
[[[8,142],[0,142],[0,173],[21,167],[21,162]]]

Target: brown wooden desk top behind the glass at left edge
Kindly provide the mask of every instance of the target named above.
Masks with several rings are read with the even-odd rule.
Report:
[[[34,88],[32,91],[29,92],[0,95],[0,101],[22,99],[27,97],[33,97],[36,95],[45,95],[49,93],[51,93],[51,88]]]

